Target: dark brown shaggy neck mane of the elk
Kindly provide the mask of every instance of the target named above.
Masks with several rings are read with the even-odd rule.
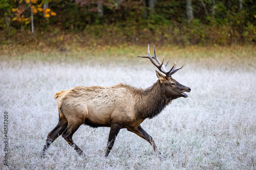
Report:
[[[135,91],[134,111],[138,118],[153,118],[170,102],[172,99],[165,98],[163,87],[158,80],[152,87]]]

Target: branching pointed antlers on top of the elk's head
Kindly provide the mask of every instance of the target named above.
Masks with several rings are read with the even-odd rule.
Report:
[[[182,65],[182,67],[180,67],[180,68],[178,68],[178,69],[175,69],[175,67],[176,67],[176,62],[174,62],[174,66],[173,66],[172,68],[170,68],[169,71],[167,71],[165,67],[166,67],[167,64],[168,64],[170,57],[168,58],[166,64],[163,65],[164,56],[165,56],[165,54],[163,55],[163,61],[160,62],[159,59],[157,58],[156,50],[155,50],[155,45],[154,45],[154,56],[152,57],[152,56],[150,55],[150,44],[148,44],[148,46],[147,46],[147,56],[138,56],[138,57],[150,59],[150,61],[151,61],[161,72],[163,72],[163,73],[166,75],[166,77],[172,76],[173,74],[175,74],[176,71],[178,71],[179,69],[181,69],[181,68],[183,67],[183,65]],[[155,59],[159,65],[156,64],[153,59]]]

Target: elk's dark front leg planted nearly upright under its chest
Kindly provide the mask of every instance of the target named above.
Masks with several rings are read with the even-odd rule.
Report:
[[[106,147],[106,153],[105,153],[105,157],[108,157],[110,154],[111,149],[113,148],[115,139],[117,134],[120,131],[120,126],[119,125],[112,125],[110,128],[110,134],[109,134],[109,140],[108,140],[108,145]]]

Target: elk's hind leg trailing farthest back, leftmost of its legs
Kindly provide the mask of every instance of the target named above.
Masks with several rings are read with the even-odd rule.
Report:
[[[51,143],[65,131],[65,129],[68,126],[68,120],[63,117],[59,117],[59,122],[57,126],[47,135],[46,143],[44,145],[44,148],[42,149],[41,157],[45,157],[45,153],[47,149],[50,147]]]

